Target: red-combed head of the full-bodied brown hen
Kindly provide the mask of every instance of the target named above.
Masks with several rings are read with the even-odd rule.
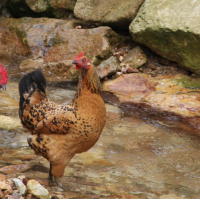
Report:
[[[76,69],[89,69],[91,65],[90,60],[84,56],[84,52],[76,56],[72,63],[76,65]]]

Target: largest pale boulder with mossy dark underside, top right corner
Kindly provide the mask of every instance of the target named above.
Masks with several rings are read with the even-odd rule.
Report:
[[[134,41],[200,74],[200,1],[146,0],[129,29]]]

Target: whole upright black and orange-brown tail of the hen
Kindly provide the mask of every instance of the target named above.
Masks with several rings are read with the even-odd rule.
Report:
[[[31,108],[46,98],[46,80],[41,70],[36,69],[21,79],[19,95],[19,116],[25,125],[23,119],[30,115]]]

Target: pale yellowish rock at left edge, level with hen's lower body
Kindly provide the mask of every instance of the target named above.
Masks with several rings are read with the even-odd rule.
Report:
[[[5,130],[17,130],[22,129],[22,125],[19,119],[0,115],[0,128]]]

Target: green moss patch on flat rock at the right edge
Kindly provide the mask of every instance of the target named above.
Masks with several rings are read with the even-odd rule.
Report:
[[[188,76],[183,76],[177,80],[177,84],[189,89],[200,89],[200,78],[194,79]]]

